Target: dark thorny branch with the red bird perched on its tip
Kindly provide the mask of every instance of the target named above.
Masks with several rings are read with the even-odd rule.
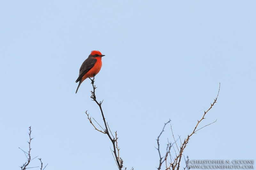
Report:
[[[116,133],[116,137],[113,137],[113,138],[111,137],[112,133],[111,133],[109,127],[108,127],[108,124],[107,124],[107,122],[106,122],[106,120],[105,120],[105,117],[104,117],[104,114],[103,114],[103,111],[102,111],[102,108],[101,108],[101,104],[102,104],[103,100],[100,101],[100,102],[98,102],[98,101],[96,100],[95,89],[96,89],[97,87],[94,85],[94,78],[95,78],[95,75],[93,76],[93,78],[90,78],[90,80],[92,81],[91,84],[92,84],[92,87],[93,87],[93,91],[91,91],[91,98],[92,98],[92,100],[95,101],[95,102],[97,103],[97,105],[100,107],[101,115],[102,115],[102,118],[103,118],[103,121],[104,121],[104,124],[105,124],[105,129],[103,129],[103,128],[99,125],[98,122],[97,122],[98,125],[103,129],[103,131],[97,129],[97,128],[95,127],[95,125],[92,123],[91,117],[89,117],[89,114],[87,114],[87,111],[85,112],[85,114],[87,115],[87,119],[90,121],[90,123],[92,124],[92,126],[94,127],[94,129],[96,129],[97,131],[99,131],[99,132],[101,132],[101,133],[104,133],[104,134],[107,134],[107,135],[108,135],[109,139],[111,140],[111,142],[112,142],[112,144],[113,144],[113,150],[111,150],[111,151],[114,153],[114,158],[115,158],[115,161],[116,161],[116,165],[118,166],[118,169],[121,170],[122,167],[124,167],[124,166],[123,166],[124,161],[123,161],[123,159],[121,159],[121,157],[119,156],[119,150],[120,150],[120,148],[119,148],[118,145],[117,145],[117,139],[118,139],[117,133],[115,132],[115,133]],[[95,120],[94,120],[94,121],[95,121]],[[95,122],[96,122],[96,121],[95,121]],[[109,131],[110,131],[111,135],[110,135]],[[113,136],[113,135],[112,135],[112,136]],[[116,152],[116,150],[117,150],[117,152]],[[125,169],[126,169],[126,168],[125,168]]]

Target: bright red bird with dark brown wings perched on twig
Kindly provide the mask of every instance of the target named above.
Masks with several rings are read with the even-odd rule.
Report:
[[[76,92],[81,85],[81,83],[88,77],[93,77],[100,72],[102,62],[101,57],[102,55],[100,51],[92,51],[88,58],[84,61],[81,65],[79,70],[79,76],[76,80],[76,83],[79,82]]]

